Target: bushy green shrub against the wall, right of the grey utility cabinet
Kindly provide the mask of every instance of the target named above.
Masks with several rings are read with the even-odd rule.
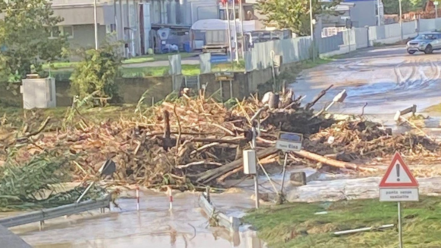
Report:
[[[118,87],[115,83],[121,57],[117,44],[105,44],[98,50],[79,50],[82,61],[76,64],[71,76],[71,91],[80,99],[93,95],[93,105],[116,101]]]

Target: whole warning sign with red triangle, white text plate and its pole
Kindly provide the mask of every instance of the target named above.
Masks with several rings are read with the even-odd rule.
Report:
[[[418,182],[397,152],[380,182],[380,201],[398,202],[398,241],[403,248],[401,230],[402,201],[419,201]]]

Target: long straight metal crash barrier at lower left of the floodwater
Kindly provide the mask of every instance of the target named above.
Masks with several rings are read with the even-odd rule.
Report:
[[[32,222],[41,223],[47,219],[57,218],[64,215],[78,214],[92,209],[101,208],[101,210],[103,210],[105,207],[110,208],[109,194],[106,194],[105,196],[99,199],[85,200],[80,203],[67,204],[59,207],[52,207],[52,208],[32,211],[22,215],[1,218],[0,225],[4,227],[12,227],[12,226],[20,226]]]

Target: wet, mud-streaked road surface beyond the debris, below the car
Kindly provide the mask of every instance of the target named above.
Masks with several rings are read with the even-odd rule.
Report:
[[[331,111],[346,114],[392,114],[416,104],[421,111],[441,102],[441,53],[409,55],[404,46],[362,49],[343,59],[304,70],[290,86],[311,100],[334,84],[316,106],[323,107],[338,92],[348,97]]]

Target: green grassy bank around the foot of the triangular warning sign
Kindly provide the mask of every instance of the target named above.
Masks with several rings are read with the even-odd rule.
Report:
[[[315,212],[328,211],[326,215]],[[441,247],[441,198],[422,197],[403,203],[403,242],[406,248]],[[396,228],[334,236],[339,230],[397,223],[396,203],[378,199],[336,203],[291,203],[248,213],[252,224],[271,248],[396,248]],[[285,242],[287,239],[287,242]]]

